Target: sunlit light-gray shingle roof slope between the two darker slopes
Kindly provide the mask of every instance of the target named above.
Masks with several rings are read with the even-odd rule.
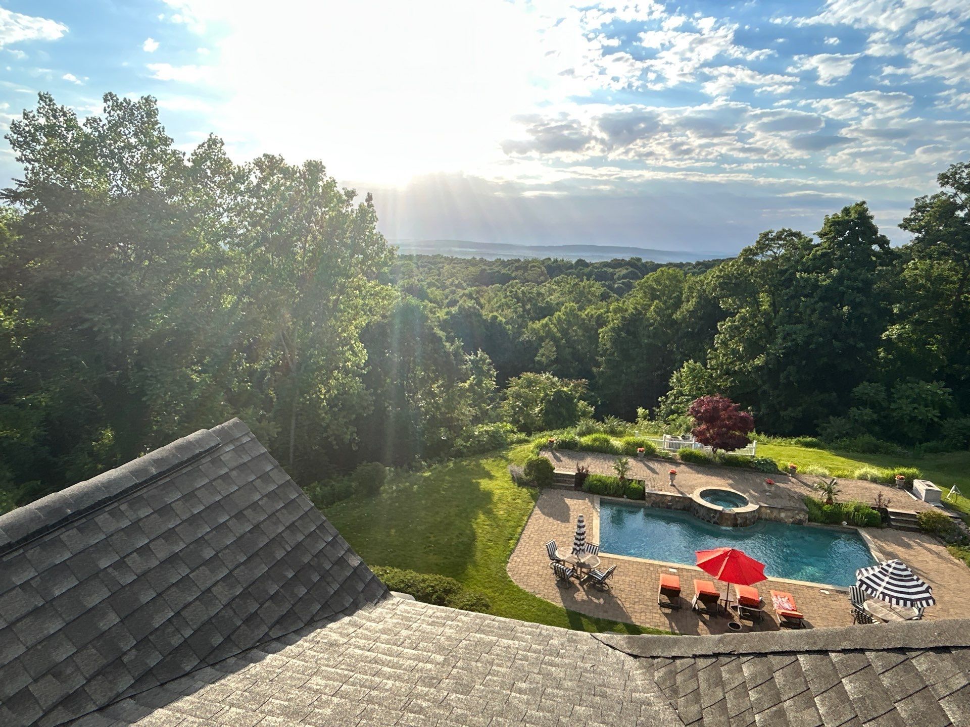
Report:
[[[635,667],[589,634],[392,597],[71,727],[680,725]]]

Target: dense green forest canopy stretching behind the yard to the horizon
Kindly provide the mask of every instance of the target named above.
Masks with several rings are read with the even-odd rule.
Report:
[[[966,447],[970,165],[736,258],[396,256],[319,162],[178,151],[40,96],[0,208],[0,511],[240,416],[302,483],[723,394],[762,432]]]

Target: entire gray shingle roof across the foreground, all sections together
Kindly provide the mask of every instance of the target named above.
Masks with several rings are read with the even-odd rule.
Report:
[[[0,517],[0,725],[970,725],[970,620],[586,634],[387,594],[242,422]]]

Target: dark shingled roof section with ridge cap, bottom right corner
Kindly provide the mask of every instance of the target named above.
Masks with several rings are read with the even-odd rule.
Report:
[[[686,725],[970,725],[970,620],[598,639]]]

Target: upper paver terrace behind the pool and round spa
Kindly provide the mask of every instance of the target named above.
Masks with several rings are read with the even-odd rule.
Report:
[[[575,472],[576,467],[582,465],[588,467],[590,472],[616,475],[613,470],[613,463],[617,458],[613,455],[568,450],[556,450],[542,454],[552,460],[557,470]],[[671,468],[677,470],[677,477],[673,486],[670,485],[669,475],[667,474]],[[763,472],[737,467],[703,466],[668,459],[632,457],[630,458],[630,474],[628,477],[633,480],[643,480],[647,490],[682,495],[690,495],[701,485],[728,487],[738,490],[761,504],[802,511],[807,510],[803,501],[805,495],[818,496],[812,486],[824,479],[816,475],[796,474],[794,477],[785,474],[766,475]],[[765,485],[765,479],[771,479],[775,484]],[[921,510],[933,509],[932,505],[914,499],[906,491],[897,490],[888,485],[878,485],[865,480],[849,480],[841,477],[838,478],[838,481],[838,499],[841,501],[859,500],[871,505],[877,495],[881,493],[891,500],[889,507],[892,510],[917,513]]]

